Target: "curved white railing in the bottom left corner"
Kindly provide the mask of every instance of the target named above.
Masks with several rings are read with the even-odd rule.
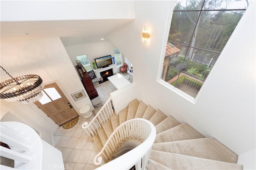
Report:
[[[43,147],[39,135],[20,122],[1,122],[1,142],[10,149],[2,147],[0,155],[14,160],[14,169],[42,169]],[[0,169],[13,169],[1,165]]]

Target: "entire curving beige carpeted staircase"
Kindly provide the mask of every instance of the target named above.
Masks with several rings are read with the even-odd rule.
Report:
[[[152,146],[147,170],[167,169],[243,169],[236,164],[238,155],[213,137],[205,138],[187,123],[180,123],[171,115],[137,99],[110,117],[93,137],[100,151],[121,123],[133,118],[144,118],[156,127],[156,140]],[[108,162],[112,160],[104,160]]]

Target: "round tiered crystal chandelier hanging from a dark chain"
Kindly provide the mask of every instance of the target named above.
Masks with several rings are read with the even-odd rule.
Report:
[[[0,66],[11,79],[0,83],[0,98],[7,102],[30,104],[42,98],[43,80],[36,74],[28,74],[13,78]]]

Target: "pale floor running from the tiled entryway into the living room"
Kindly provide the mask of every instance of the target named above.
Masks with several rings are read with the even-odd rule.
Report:
[[[122,75],[127,80],[130,77],[128,73]],[[128,81],[132,82],[132,79]],[[94,82],[94,86],[104,103],[110,98],[110,93],[116,90],[110,81],[101,84]],[[95,113],[98,113],[100,108],[95,109]],[[93,141],[88,140],[88,135],[82,129],[82,124],[85,121],[89,123],[92,119],[93,115],[88,119],[80,116],[78,123],[71,129],[58,127],[53,133],[54,145],[62,152],[64,167],[67,170],[93,170],[98,167],[93,163],[94,157],[98,154],[96,146]]]

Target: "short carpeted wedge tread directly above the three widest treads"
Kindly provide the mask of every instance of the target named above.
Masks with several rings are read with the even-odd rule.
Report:
[[[180,122],[174,119],[171,115],[168,115],[168,117],[156,125],[156,134],[178,125],[180,125]]]

